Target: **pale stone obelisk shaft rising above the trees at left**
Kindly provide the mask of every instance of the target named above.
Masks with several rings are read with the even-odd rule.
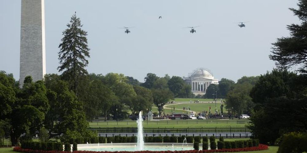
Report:
[[[44,0],[21,0],[20,87],[26,76],[35,82],[46,74],[44,12]]]

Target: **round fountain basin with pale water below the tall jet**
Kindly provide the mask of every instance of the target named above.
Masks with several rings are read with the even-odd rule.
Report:
[[[174,144],[174,147],[172,146]],[[79,151],[136,151],[137,143],[113,143],[113,144],[78,144]],[[182,143],[145,143],[143,150],[149,151],[180,151],[193,150],[193,144],[188,143],[182,149]]]

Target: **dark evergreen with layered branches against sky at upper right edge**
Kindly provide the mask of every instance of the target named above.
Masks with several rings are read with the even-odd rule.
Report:
[[[290,37],[278,38],[270,59],[276,61],[279,68],[287,69],[293,65],[300,65],[299,71],[307,73],[307,0],[299,0],[298,9],[290,8],[301,24],[287,26],[290,30]]]

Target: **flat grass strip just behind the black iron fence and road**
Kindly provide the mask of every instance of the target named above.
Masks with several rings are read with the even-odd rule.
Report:
[[[144,127],[244,127],[249,120],[160,120],[143,121]],[[90,127],[137,127],[136,121],[98,121],[89,122]]]

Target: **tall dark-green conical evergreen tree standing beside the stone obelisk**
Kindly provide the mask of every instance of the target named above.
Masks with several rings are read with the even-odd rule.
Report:
[[[87,45],[87,32],[82,30],[80,18],[76,17],[76,13],[71,17],[67,29],[64,30],[64,37],[61,39],[59,48],[60,66],[59,72],[62,72],[62,78],[67,80],[75,93],[77,92],[78,81],[82,76],[87,75],[85,67],[88,65],[87,58],[89,48]],[[76,93],[77,94],[77,93]]]

